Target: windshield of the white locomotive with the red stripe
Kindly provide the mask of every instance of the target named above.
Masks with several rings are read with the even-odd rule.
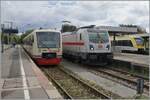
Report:
[[[109,42],[108,33],[90,33],[89,41],[91,43],[107,43]]]

